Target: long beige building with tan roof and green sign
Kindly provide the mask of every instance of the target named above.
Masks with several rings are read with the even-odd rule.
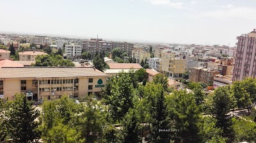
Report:
[[[83,98],[99,94],[107,77],[92,67],[0,68],[0,96],[13,100],[15,93],[24,93],[35,102],[58,99],[63,94]]]

